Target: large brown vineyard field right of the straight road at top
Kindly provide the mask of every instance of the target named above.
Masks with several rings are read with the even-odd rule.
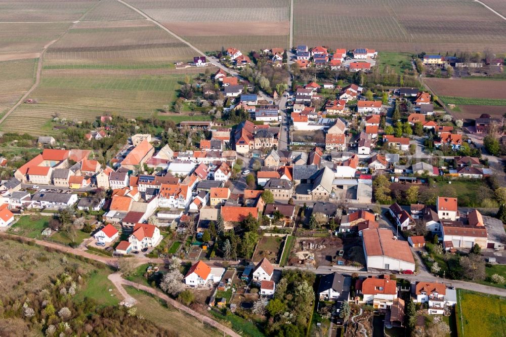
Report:
[[[392,52],[502,52],[506,21],[469,0],[295,0],[293,43]]]

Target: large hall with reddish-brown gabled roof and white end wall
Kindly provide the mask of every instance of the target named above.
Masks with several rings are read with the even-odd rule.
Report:
[[[397,240],[390,229],[364,229],[362,246],[367,269],[393,271],[415,269],[409,244]]]

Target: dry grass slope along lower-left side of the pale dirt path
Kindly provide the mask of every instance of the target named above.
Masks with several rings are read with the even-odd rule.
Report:
[[[138,301],[135,305],[137,313],[161,327],[177,331],[180,336],[194,337],[202,334],[203,330],[208,336],[219,337],[222,335],[217,329],[202,324],[194,317],[167,306],[164,301],[155,298],[152,294],[131,286],[125,286],[125,289]]]

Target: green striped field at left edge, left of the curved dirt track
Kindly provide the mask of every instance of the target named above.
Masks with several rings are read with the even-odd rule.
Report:
[[[33,84],[36,59],[0,62],[0,114],[26,93]]]

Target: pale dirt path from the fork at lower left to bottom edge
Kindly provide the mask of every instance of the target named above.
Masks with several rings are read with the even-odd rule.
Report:
[[[120,273],[110,274],[108,276],[108,278],[109,278],[109,280],[112,281],[112,283],[116,286],[116,288],[118,288],[119,292],[122,294],[122,296],[125,298],[125,300],[131,299],[131,296],[129,296],[129,294],[126,293],[126,291],[123,288],[123,285],[130,285],[130,286],[133,286],[137,289],[149,292],[149,293],[153,294],[154,296],[159,297],[160,299],[167,302],[167,304],[170,304],[173,307],[175,307],[176,309],[182,310],[182,311],[186,312],[187,314],[192,315],[193,317],[198,319],[200,322],[207,323],[207,324],[217,328],[218,330],[228,334],[229,336],[233,336],[233,337],[240,337],[241,336],[240,334],[236,333],[234,330],[226,327],[225,325],[222,325],[222,324],[218,323],[217,321],[215,321],[205,315],[202,315],[202,314],[188,308],[187,306],[182,305],[178,301],[171,299],[166,294],[158,291],[157,289],[154,289],[152,287],[148,287],[146,285],[142,285],[139,283],[135,283],[132,281],[125,280],[121,277]]]

